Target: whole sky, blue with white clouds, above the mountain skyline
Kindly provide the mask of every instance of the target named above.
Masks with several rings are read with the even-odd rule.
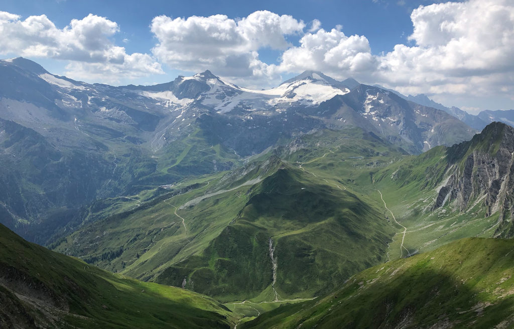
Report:
[[[4,0],[0,35],[0,58],[89,83],[209,69],[260,89],[317,70],[470,113],[514,109],[512,0]]]

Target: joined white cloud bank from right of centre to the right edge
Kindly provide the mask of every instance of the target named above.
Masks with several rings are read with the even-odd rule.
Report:
[[[451,95],[514,94],[514,4],[469,0],[413,10],[412,46],[373,55],[363,35],[340,28],[303,35],[282,55],[280,72],[320,70],[353,76],[403,93],[428,93],[451,103]]]

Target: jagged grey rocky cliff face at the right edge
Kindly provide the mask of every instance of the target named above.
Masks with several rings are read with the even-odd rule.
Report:
[[[466,211],[483,202],[486,216],[500,211],[496,234],[513,236],[514,219],[514,128],[500,122],[488,125],[469,142],[447,150],[449,174],[439,189],[434,208],[448,202]]]

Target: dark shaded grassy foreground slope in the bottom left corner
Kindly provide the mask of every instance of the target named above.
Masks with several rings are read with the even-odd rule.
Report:
[[[232,317],[209,297],[108,273],[0,224],[0,327],[228,328]]]

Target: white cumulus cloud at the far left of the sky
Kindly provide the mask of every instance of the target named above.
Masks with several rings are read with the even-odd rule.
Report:
[[[105,76],[109,82],[117,82],[162,73],[149,54],[127,54],[124,47],[114,45],[111,37],[117,32],[117,23],[93,14],[59,29],[46,15],[21,20],[19,15],[0,12],[2,53],[72,61],[67,74],[76,79],[105,81]]]

